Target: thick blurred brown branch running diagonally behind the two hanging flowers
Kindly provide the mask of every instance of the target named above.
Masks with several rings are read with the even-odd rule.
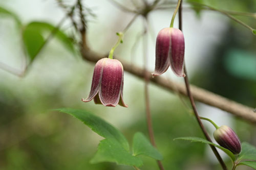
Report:
[[[108,57],[108,55],[102,55],[98,54],[92,50],[88,46],[81,48],[81,55],[84,60],[91,61],[96,63],[98,60],[104,57]],[[130,64],[130,62],[127,62],[121,58],[118,58],[115,56],[116,59],[118,59],[122,65],[123,69],[130,74],[144,79],[144,70],[141,67],[138,67],[136,65]],[[163,78],[163,77],[155,77],[152,78],[151,71],[147,71],[147,75],[150,78],[150,81],[170,92],[173,92],[175,89],[178,90],[179,93],[182,95],[187,95],[186,88],[183,83],[173,82],[169,79]],[[248,122],[255,123],[256,124],[256,114],[253,112],[254,108],[242,105],[240,103],[237,103],[235,101],[229,100],[227,98],[224,98],[223,96],[210,92],[208,90],[205,90],[203,88],[190,85],[190,91],[193,96],[193,98],[201,103],[204,103],[206,105],[219,108],[221,110],[224,110],[228,113],[233,114],[234,116],[237,116],[239,118],[245,119]]]

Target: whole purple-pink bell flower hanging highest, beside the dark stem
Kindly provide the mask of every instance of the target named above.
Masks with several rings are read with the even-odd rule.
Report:
[[[163,74],[170,66],[175,75],[185,77],[184,50],[184,36],[179,29],[162,29],[157,35],[156,66],[153,76]]]

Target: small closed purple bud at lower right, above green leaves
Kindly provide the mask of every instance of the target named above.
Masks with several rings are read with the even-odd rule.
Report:
[[[231,151],[233,154],[241,152],[241,143],[237,134],[228,126],[221,126],[214,132],[215,140],[223,147]]]

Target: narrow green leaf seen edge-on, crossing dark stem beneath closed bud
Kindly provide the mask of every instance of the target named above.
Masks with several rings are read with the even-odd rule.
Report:
[[[202,142],[202,143],[211,144],[211,145],[221,149],[223,152],[225,152],[233,161],[235,160],[234,154],[232,152],[230,152],[226,148],[221,147],[218,144],[209,142],[208,140],[205,140],[205,139],[202,139],[202,138],[199,138],[199,137],[179,137],[179,138],[175,138],[174,140],[177,140],[177,139],[190,140],[191,142]]]

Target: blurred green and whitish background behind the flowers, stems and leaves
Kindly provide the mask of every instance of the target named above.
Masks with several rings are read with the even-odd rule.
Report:
[[[64,1],[72,4],[74,1]],[[160,1],[161,2],[161,1]],[[256,1],[202,1],[214,7],[233,11],[256,12]],[[96,17],[88,17],[89,46],[107,54],[121,31],[132,18],[109,1],[83,1]],[[131,1],[120,1],[133,8]],[[142,5],[140,1],[138,5]],[[1,0],[0,6],[15,13],[24,25],[46,21],[57,25],[65,15],[55,1]],[[256,37],[226,16],[214,11],[195,13],[188,4],[184,9],[185,59],[192,84],[218,93],[250,107],[256,107]],[[154,70],[155,38],[168,27],[173,9],[152,12],[149,16],[148,69]],[[256,16],[236,16],[256,28]],[[70,21],[61,27],[69,36],[74,30]],[[143,29],[138,18],[116,52],[119,58],[142,66],[142,42],[137,35]],[[178,27],[177,19],[175,27]],[[47,35],[47,34],[46,34]],[[151,39],[151,37],[153,37]],[[23,69],[24,53],[20,34],[13,18],[0,14],[0,62]],[[134,43],[137,48],[132,48]],[[130,143],[135,132],[147,135],[144,104],[144,82],[124,74],[124,102],[129,108],[83,103],[90,91],[94,63],[83,61],[78,51],[71,53],[55,38],[34,60],[24,78],[0,70],[0,169],[133,169],[115,163],[90,164],[102,139],[79,120],[50,111],[70,107],[88,110],[118,128]],[[177,79],[168,70],[163,77]],[[162,153],[165,169],[220,169],[209,147],[201,143],[173,141],[181,136],[203,137],[193,116],[177,94],[150,85],[150,103],[156,143]],[[186,99],[185,99],[186,101]],[[188,101],[186,101],[188,103]],[[255,125],[216,108],[198,103],[199,113],[218,125],[228,125],[241,141],[256,145]],[[213,127],[205,123],[212,134]],[[222,153],[230,166],[231,162]],[[141,169],[158,169],[151,158],[143,157]],[[238,169],[250,169],[241,166]]]

